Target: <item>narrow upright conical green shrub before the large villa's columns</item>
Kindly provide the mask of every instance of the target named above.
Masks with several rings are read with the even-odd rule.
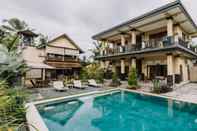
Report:
[[[136,68],[131,68],[131,71],[129,72],[129,77],[128,77],[128,85],[129,86],[137,86],[137,72]]]

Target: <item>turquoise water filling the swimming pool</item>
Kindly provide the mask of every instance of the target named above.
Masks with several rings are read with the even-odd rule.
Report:
[[[38,109],[50,131],[197,131],[197,105],[131,92]]]

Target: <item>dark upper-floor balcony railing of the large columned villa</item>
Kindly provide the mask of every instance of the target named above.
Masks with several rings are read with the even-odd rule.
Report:
[[[168,47],[173,47],[176,44],[197,54],[196,48],[192,47],[191,44],[188,44],[188,42],[185,42],[184,40],[181,39],[179,39],[178,42],[176,42],[174,37],[165,37],[162,39],[151,39],[149,41],[137,43],[135,45],[130,44],[124,47],[117,46],[115,48],[106,48],[99,54],[99,56],[118,55],[118,54],[132,53],[135,51],[145,51],[151,49],[164,49]]]

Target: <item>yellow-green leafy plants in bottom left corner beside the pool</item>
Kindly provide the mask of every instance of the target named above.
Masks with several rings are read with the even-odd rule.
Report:
[[[10,89],[5,81],[0,81],[0,129],[25,122],[25,98],[24,91]]]

